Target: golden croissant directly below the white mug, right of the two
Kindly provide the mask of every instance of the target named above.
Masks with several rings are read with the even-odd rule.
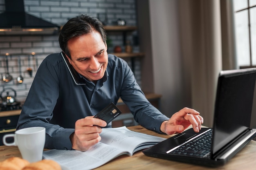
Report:
[[[21,170],[61,170],[61,166],[53,160],[43,159],[38,162],[30,163]]]

